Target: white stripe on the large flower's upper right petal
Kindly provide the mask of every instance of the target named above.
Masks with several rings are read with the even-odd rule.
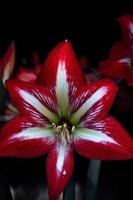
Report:
[[[94,94],[91,95],[82,105],[81,107],[72,114],[70,121],[73,124],[76,124],[79,122],[80,118],[95,104],[97,103],[101,98],[103,98],[106,93],[108,92],[107,87],[101,87],[99,88]],[[95,113],[93,113],[95,114]]]

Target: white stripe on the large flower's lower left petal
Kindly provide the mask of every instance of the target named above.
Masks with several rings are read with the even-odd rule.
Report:
[[[53,129],[46,129],[46,128],[28,128],[21,131],[18,134],[14,134],[10,137],[10,140],[19,139],[19,140],[31,140],[31,139],[46,139],[47,137],[53,137],[54,133]]]

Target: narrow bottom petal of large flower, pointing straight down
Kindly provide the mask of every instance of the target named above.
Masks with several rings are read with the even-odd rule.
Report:
[[[73,171],[73,153],[69,145],[56,143],[47,158],[49,199],[57,200]]]

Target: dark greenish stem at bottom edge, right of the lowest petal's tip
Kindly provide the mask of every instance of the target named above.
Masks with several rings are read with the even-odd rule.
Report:
[[[63,200],[75,200],[75,183],[73,178],[63,192]]]

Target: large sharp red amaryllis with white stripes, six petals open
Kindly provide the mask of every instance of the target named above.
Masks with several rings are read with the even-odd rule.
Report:
[[[57,200],[73,171],[73,151],[93,159],[129,159],[133,140],[107,115],[117,92],[110,80],[87,85],[68,41],[48,55],[40,85],[7,81],[20,115],[1,132],[0,155],[36,157],[48,153],[49,199]]]

